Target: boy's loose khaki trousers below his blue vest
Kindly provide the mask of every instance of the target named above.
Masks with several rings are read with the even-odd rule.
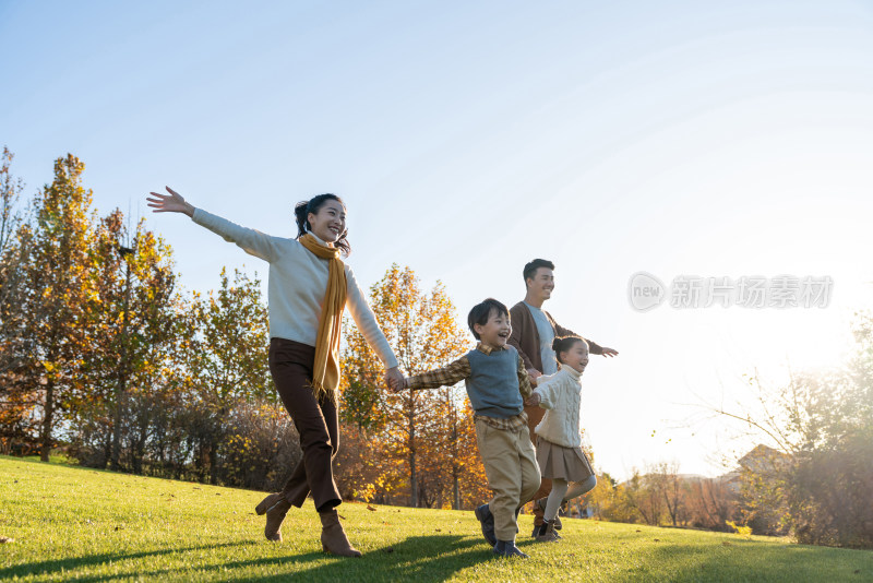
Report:
[[[539,489],[540,475],[527,428],[512,432],[476,420],[476,441],[482,456],[488,486],[494,498],[488,508],[494,515],[498,540],[515,540],[515,511]]]

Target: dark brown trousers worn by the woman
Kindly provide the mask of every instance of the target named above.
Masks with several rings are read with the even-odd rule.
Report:
[[[339,420],[328,396],[312,394],[315,348],[285,338],[270,341],[270,372],[282,402],[300,436],[303,459],[285,484],[283,495],[300,508],[309,492],[315,509],[330,510],[343,501],[334,481],[331,462],[339,449]]]

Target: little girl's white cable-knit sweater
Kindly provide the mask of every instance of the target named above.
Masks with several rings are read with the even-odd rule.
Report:
[[[542,420],[534,428],[539,437],[564,448],[582,445],[579,408],[582,406],[582,372],[572,367],[562,367],[554,374],[539,377],[535,393],[539,394],[539,406],[548,409]]]

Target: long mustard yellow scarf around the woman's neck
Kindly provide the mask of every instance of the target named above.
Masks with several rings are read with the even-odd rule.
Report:
[[[327,262],[327,290],[319,317],[319,335],[315,338],[315,362],[312,367],[312,389],[315,397],[327,394],[336,402],[339,386],[339,332],[343,310],[346,308],[346,270],[339,259],[339,249],[320,243],[307,233],[300,242],[310,252]]]

